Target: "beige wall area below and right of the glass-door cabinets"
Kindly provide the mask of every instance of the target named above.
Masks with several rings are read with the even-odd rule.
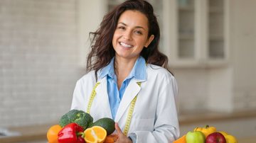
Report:
[[[230,60],[223,67],[174,69],[179,108],[230,112],[256,108],[256,1],[230,0]]]

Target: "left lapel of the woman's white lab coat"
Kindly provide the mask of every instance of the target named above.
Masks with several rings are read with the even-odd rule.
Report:
[[[95,88],[96,96],[97,96],[97,104],[100,104],[100,106],[104,109],[104,113],[107,114],[108,118],[112,118],[111,110],[110,110],[110,101],[107,94],[107,77],[100,79],[98,82],[100,84]],[[100,109],[99,109],[100,110]]]

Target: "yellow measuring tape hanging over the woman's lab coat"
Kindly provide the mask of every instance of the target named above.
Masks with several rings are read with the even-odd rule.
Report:
[[[89,99],[89,103],[87,105],[87,110],[86,112],[90,114],[90,108],[92,106],[92,101],[93,99],[95,98],[95,95],[96,95],[96,91],[95,89],[97,88],[97,86],[100,84],[100,82],[97,82],[94,86],[94,88],[92,89],[92,93],[90,95],[90,99]],[[139,86],[141,86],[142,82],[137,82],[137,84]],[[125,126],[124,126],[124,135],[127,135],[128,134],[128,131],[129,131],[129,125],[131,123],[131,120],[132,120],[132,113],[134,111],[134,105],[137,101],[137,96],[138,94],[134,97],[134,99],[132,100],[131,102],[131,105],[129,106],[129,111],[128,111],[128,115],[127,115],[127,120],[125,122]]]

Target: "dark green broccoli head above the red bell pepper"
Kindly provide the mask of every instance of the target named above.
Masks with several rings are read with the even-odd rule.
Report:
[[[68,113],[65,113],[65,115],[60,118],[59,125],[64,127],[71,122],[77,123],[85,130],[88,125],[92,124],[93,118],[90,114],[85,113],[82,110],[73,109],[68,111]]]

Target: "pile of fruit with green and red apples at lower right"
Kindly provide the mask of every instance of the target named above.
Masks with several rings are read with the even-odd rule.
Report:
[[[188,131],[174,143],[238,143],[238,141],[233,135],[206,125],[206,127],[196,127],[193,131]]]

